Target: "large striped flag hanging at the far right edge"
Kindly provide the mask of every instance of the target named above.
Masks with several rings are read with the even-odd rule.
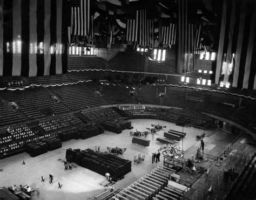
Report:
[[[235,1],[223,3],[215,83],[223,87],[256,89],[256,58],[253,56],[256,52],[256,2],[242,1],[237,8]],[[248,12],[252,15],[247,15]],[[227,18],[230,18],[229,23]]]

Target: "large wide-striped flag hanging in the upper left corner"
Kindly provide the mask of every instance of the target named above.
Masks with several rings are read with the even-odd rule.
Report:
[[[62,0],[0,1],[1,76],[66,73],[67,8]]]

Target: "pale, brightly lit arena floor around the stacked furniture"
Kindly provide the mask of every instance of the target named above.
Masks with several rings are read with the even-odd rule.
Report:
[[[167,126],[166,131],[169,129],[182,131],[182,127],[161,120],[136,119],[131,120],[131,122],[134,128],[132,130],[123,130],[121,134],[105,131],[103,134],[90,139],[63,142],[62,148],[48,151],[48,153],[37,157],[30,157],[29,154],[23,153],[0,160],[0,169],[3,169],[2,172],[0,171],[0,187],[28,184],[36,190],[33,192],[32,199],[88,199],[98,195],[106,190],[99,184],[105,180],[104,176],[80,166],[73,168],[73,170],[64,171],[64,165],[58,159],[65,160],[65,152],[68,148],[95,149],[95,145],[100,144],[100,151],[106,151],[106,147],[127,148],[125,153],[119,155],[119,157],[132,161],[132,171],[115,185],[116,188],[124,188],[156,168],[159,164],[163,164],[162,158],[160,158],[160,162],[152,164],[151,155],[153,152],[157,152],[159,146],[163,145],[157,142],[156,139],[157,137],[164,137],[164,130],[160,130],[156,134],[147,135],[146,139],[151,140],[149,147],[133,144],[130,131],[136,129],[146,131],[146,127],[151,128],[151,124],[157,123]],[[196,139],[196,135],[201,131],[197,128],[184,127],[184,132],[187,133],[183,141],[184,150],[199,145],[200,141]],[[205,132],[206,136],[212,133],[211,130],[206,130]],[[181,149],[182,142],[177,142],[176,146]],[[133,156],[138,154],[145,155],[145,161],[140,164],[133,162]],[[22,165],[23,156],[25,165]],[[53,184],[48,182],[49,174],[53,175]],[[44,183],[41,183],[41,176],[46,177]],[[62,189],[58,189],[58,182],[63,184]]]

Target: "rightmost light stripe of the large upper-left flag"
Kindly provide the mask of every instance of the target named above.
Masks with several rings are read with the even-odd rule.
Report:
[[[57,13],[56,16],[56,74],[62,74],[62,12],[58,11],[58,8],[62,8],[62,0],[57,0],[57,6],[55,12]],[[82,29],[83,30],[83,29]]]

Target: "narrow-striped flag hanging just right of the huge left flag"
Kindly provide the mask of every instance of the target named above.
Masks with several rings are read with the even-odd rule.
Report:
[[[71,5],[71,34],[90,36],[91,15],[90,0],[70,0]]]

